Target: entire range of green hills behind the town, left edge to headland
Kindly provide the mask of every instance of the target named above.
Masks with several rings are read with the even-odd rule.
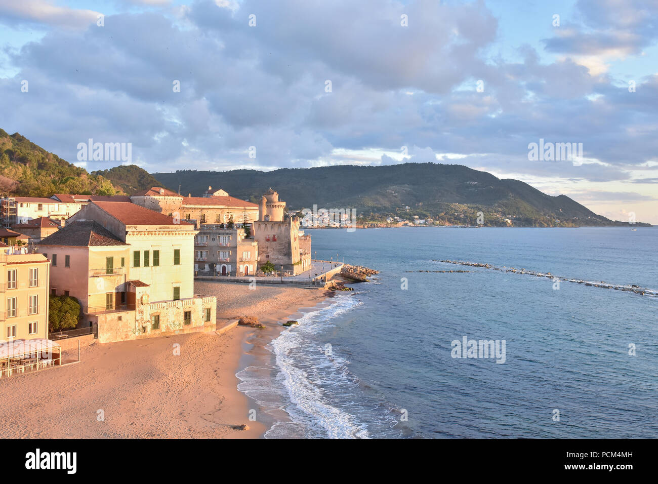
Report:
[[[517,227],[580,227],[628,225],[597,215],[565,195],[549,196],[511,178],[462,165],[403,163],[380,167],[339,165],[274,171],[232,170],[153,173],[122,165],[88,173],[30,142],[0,129],[0,194],[135,194],[164,186],[187,195],[201,195],[209,186],[258,202],[272,187],[290,209],[357,209],[369,221],[397,216],[411,220]],[[637,223],[645,226],[649,224]]]

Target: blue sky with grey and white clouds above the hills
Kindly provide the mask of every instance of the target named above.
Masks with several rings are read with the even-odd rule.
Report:
[[[657,40],[656,0],[0,0],[0,128],[89,171],[466,165],[658,224]]]

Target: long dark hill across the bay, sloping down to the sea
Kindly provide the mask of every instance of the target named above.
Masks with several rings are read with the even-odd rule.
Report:
[[[268,172],[180,170],[152,175],[163,185],[180,184],[181,193],[198,195],[213,186],[252,202],[272,187],[291,209],[314,204],[326,209],[356,208],[370,220],[417,215],[440,223],[475,225],[478,211],[482,211],[484,225],[490,226],[508,225],[506,218],[519,227],[628,225],[597,215],[565,195],[549,196],[519,180],[499,179],[463,165],[339,165]]]

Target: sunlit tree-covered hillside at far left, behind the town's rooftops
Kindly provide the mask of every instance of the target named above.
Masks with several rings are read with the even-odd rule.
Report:
[[[0,195],[122,194],[110,180],[89,175],[24,136],[0,129]]]

